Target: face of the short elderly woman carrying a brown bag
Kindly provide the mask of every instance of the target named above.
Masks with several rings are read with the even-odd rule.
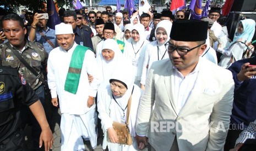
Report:
[[[118,82],[117,80],[112,80],[112,82],[110,83],[110,89],[112,91],[112,94],[118,97],[123,96],[127,91],[126,86],[124,86],[123,83]]]

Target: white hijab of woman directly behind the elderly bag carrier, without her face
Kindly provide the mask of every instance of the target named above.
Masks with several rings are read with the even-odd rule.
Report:
[[[104,42],[102,43],[101,51],[103,49],[110,49],[110,50],[114,51],[114,53],[115,53],[115,56],[110,61],[106,61],[104,59],[104,57],[102,56],[102,53],[100,53],[100,56],[97,56],[97,63],[99,65],[100,72],[102,75],[101,78],[102,78],[103,82],[106,84],[106,83],[109,83],[110,75],[114,71],[115,67],[119,64],[119,61],[123,60],[123,54],[122,54],[121,50],[119,49],[116,40],[114,40],[114,39],[104,40]]]

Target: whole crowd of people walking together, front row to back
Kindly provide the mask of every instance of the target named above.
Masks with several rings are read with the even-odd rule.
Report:
[[[255,20],[231,40],[220,8],[200,20],[149,8],[60,9],[55,29],[42,10],[4,15],[0,150],[25,150],[28,123],[34,150],[51,149],[52,107],[61,150],[98,137],[104,150],[255,150]]]

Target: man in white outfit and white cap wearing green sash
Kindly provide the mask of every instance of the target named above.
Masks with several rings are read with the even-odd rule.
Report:
[[[48,58],[48,85],[52,104],[61,109],[61,150],[85,150],[83,138],[89,138],[91,147],[97,146],[94,97],[99,86],[99,72],[90,48],[74,42],[69,24],[55,26],[60,47]],[[94,80],[89,83],[88,75]]]

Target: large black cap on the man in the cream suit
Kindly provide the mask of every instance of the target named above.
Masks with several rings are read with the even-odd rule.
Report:
[[[198,42],[207,39],[208,22],[200,20],[176,20],[172,23],[170,38],[182,42]]]

